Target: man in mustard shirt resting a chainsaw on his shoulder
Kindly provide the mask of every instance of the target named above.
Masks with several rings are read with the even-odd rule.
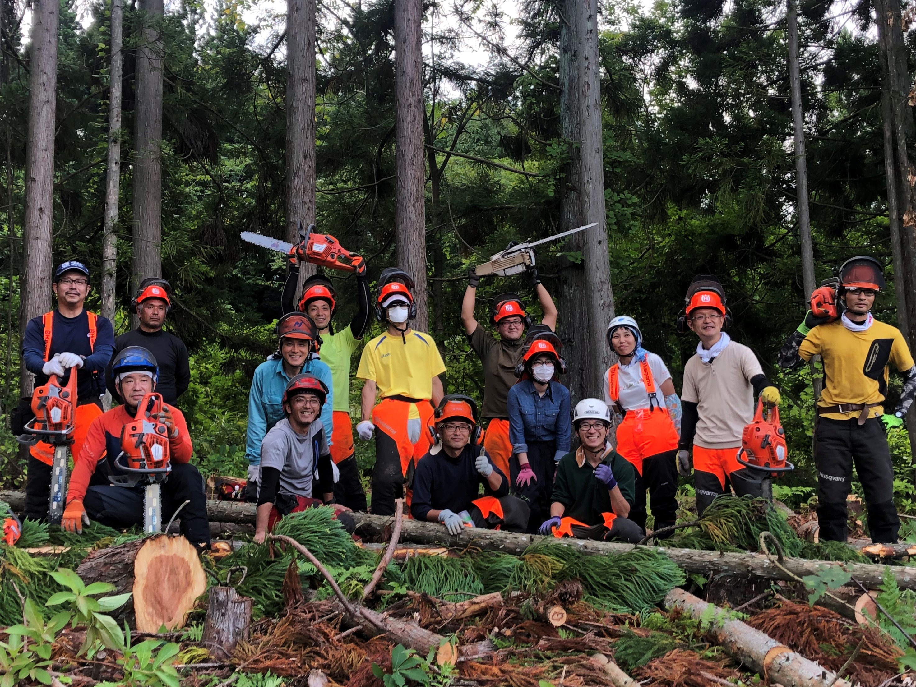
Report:
[[[900,330],[871,314],[884,287],[877,260],[868,256],[846,260],[838,284],[812,294],[812,307],[819,308],[821,316],[808,311],[780,351],[780,365],[790,369],[813,355],[823,358],[823,394],[814,419],[822,540],[846,540],[846,496],[854,463],[865,491],[871,540],[894,543],[900,529],[887,429],[902,425],[912,405],[916,366]],[[893,414],[885,415],[891,363],[904,377],[903,390]]]

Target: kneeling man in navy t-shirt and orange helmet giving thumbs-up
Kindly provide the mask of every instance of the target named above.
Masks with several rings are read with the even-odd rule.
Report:
[[[481,441],[477,405],[461,394],[442,398],[430,428],[435,444],[417,463],[410,512],[417,520],[441,522],[449,534],[463,527],[523,532],[529,507],[508,496],[509,483]],[[480,485],[485,496],[477,498]]]

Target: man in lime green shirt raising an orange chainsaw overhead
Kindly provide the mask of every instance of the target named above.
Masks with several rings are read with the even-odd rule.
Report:
[[[283,285],[281,304],[284,312],[293,311],[293,299],[299,286],[299,261],[308,259],[300,250],[290,256],[289,276]],[[365,492],[359,480],[359,468],[353,445],[353,421],[350,420],[350,358],[369,328],[369,278],[362,256],[350,254],[351,267],[356,275],[357,310],[350,324],[339,332],[333,331],[333,317],[337,312],[337,292],[329,278],[316,274],[302,285],[298,310],[304,312],[318,326],[322,337],[322,362],[331,368],[333,377],[333,429],[331,458],[340,471],[334,483],[334,499],[339,504],[365,512]]]

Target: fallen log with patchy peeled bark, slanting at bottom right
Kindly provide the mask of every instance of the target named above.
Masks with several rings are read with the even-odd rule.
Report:
[[[682,589],[672,589],[665,597],[669,610],[679,607],[697,620],[709,623],[709,633],[725,652],[736,661],[763,676],[764,681],[785,687],[852,687],[850,682],[837,679],[823,666],[804,658],[769,635],[740,620],[727,611],[707,604]]]

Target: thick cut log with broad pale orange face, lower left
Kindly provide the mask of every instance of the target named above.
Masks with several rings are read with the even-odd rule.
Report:
[[[113,594],[133,592],[118,617],[139,632],[183,627],[207,590],[197,550],[181,536],[159,534],[93,551],[76,569],[83,582],[113,583]]]

